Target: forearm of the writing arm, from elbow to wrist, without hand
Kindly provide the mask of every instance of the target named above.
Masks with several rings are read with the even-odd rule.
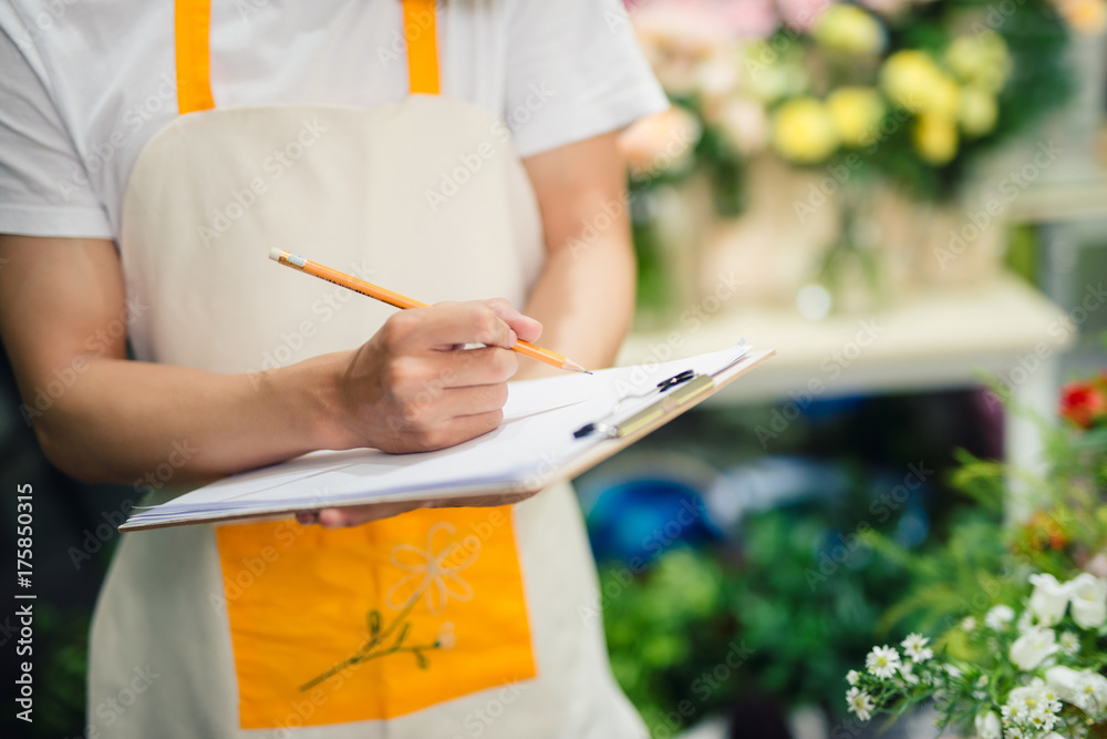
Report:
[[[329,408],[348,361],[343,352],[217,374],[95,359],[49,404],[24,388],[24,410],[48,456],[69,474],[136,485],[201,482],[338,445]]]

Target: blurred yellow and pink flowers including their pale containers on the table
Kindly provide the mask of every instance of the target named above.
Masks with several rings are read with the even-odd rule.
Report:
[[[972,281],[999,269],[997,218],[952,268],[932,253],[963,226],[962,198],[980,195],[974,176],[985,155],[1068,100],[1069,33],[1101,29],[1107,8],[1105,0],[625,2],[674,103],[623,137],[632,196],[645,195],[632,209],[640,306],[664,315],[697,299],[672,285],[693,261],[693,292],[741,273],[739,300],[795,302],[815,318],[826,314],[800,305],[804,288],[831,309],[868,310],[920,283]],[[683,212],[672,197],[668,209],[659,207],[665,198],[651,198],[680,188]],[[683,235],[651,230],[666,217]]]

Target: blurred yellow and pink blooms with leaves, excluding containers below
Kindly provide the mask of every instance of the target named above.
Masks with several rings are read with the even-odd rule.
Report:
[[[742,162],[766,151],[879,174],[920,197],[953,195],[983,151],[1065,100],[1066,21],[1097,31],[1107,19],[1104,0],[627,4],[676,103],[628,133],[632,171],[707,168],[724,213],[741,208]],[[673,141],[686,156],[659,167]]]

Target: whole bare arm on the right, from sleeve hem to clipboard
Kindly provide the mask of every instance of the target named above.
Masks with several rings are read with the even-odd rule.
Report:
[[[541,208],[547,263],[524,310],[542,346],[584,367],[609,367],[634,311],[627,172],[608,133],[525,160]],[[538,362],[516,379],[556,373]]]

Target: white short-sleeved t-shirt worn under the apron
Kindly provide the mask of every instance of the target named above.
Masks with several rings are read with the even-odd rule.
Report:
[[[217,107],[407,94],[400,0],[213,0]],[[439,0],[442,94],[520,156],[666,106],[620,0]],[[177,116],[174,3],[0,4],[0,233],[117,238],[143,146]]]

